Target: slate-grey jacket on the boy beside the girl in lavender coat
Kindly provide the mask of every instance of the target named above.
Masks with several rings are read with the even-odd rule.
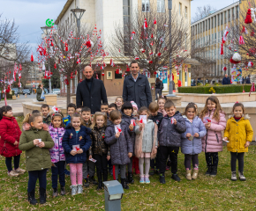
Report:
[[[171,118],[177,120],[177,125],[171,124]],[[164,117],[159,128],[159,145],[166,147],[180,147],[181,134],[185,132],[184,118],[179,112],[172,117]]]

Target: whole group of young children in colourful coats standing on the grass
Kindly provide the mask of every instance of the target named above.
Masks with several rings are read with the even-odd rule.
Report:
[[[207,98],[200,114],[194,103],[189,103],[183,114],[179,113],[173,102],[166,98],[159,98],[148,108],[139,109],[136,103],[117,98],[116,104],[102,104],[101,112],[94,115],[88,107],[77,108],[70,104],[67,113],[64,118],[60,111],[50,113],[49,106],[42,105],[41,111],[26,115],[21,133],[11,106],[1,108],[0,154],[5,156],[8,175],[13,177],[25,172],[19,168],[19,158],[21,151],[26,151],[27,196],[31,204],[37,203],[34,197],[37,178],[40,203],[46,202],[49,168],[53,197],[58,195],[58,177],[60,194],[65,194],[67,165],[70,167],[72,195],[83,193],[83,186],[89,186],[89,182],[97,184],[97,190],[101,190],[102,182],[108,180],[108,168],[114,179],[120,174],[124,189],[129,189],[127,184],[134,183],[133,169],[140,174],[141,184],[149,184],[149,175],[155,173],[164,184],[165,171],[169,168],[171,178],[180,181],[177,175],[179,148],[184,154],[186,179],[198,177],[201,151],[206,156],[206,175],[215,177],[222,142],[228,142],[231,180],[237,180],[237,160],[239,178],[245,180],[244,154],[252,142],[253,131],[241,103],[233,106],[233,114],[227,122],[219,100],[214,96]],[[95,167],[98,182],[94,179]]]

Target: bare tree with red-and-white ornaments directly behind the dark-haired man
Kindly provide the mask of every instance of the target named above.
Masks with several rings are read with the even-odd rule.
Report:
[[[168,11],[157,12],[153,5],[150,8],[150,12],[133,11],[124,27],[117,25],[108,50],[114,62],[128,66],[136,60],[140,69],[155,78],[158,71],[172,69],[190,55],[190,27],[185,15],[176,10],[172,12],[169,25]],[[152,86],[154,98],[155,84]]]

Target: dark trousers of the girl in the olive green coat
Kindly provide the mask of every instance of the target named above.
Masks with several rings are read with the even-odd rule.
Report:
[[[37,178],[39,178],[39,186],[46,190],[46,173],[47,169],[40,171],[28,171],[27,192],[31,193],[35,189]]]

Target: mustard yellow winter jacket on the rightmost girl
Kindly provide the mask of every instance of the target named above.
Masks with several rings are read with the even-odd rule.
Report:
[[[224,137],[227,137],[230,142],[227,143],[227,148],[230,152],[247,152],[245,148],[246,142],[252,142],[253,130],[250,123],[250,117],[245,115],[240,120],[236,121],[233,116],[227,122],[227,127],[224,132]]]

